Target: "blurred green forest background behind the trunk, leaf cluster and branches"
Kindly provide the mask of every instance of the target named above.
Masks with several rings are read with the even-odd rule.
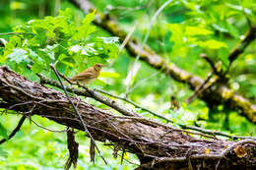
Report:
[[[135,26],[133,36],[143,41],[151,20],[165,2],[163,0],[92,0],[96,10],[110,15],[120,28],[127,32]],[[65,0],[1,0],[0,1],[0,33],[12,32],[14,27],[31,20],[43,19],[45,16],[57,16],[59,9],[70,8],[74,13],[74,22],[80,25],[85,15],[70,2]],[[239,42],[240,38],[249,29],[248,20],[256,24],[256,3],[253,0],[179,0],[170,3],[153,24],[147,45],[152,47],[167,62],[173,62],[180,68],[206,78],[211,67],[199,56],[206,53],[214,61],[221,60],[228,64],[227,55]],[[96,28],[96,35],[110,36],[106,31]],[[9,40],[10,35],[0,35],[0,38]],[[230,86],[233,90],[256,101],[256,42],[246,48],[245,52],[232,64],[229,72]],[[4,49],[0,48],[0,55]],[[2,63],[1,65],[6,64]],[[87,63],[88,64],[88,63]],[[67,75],[78,73],[85,66],[74,67]],[[74,65],[76,66],[76,65]],[[195,125],[207,129],[222,131],[231,135],[255,136],[256,126],[232,110],[219,105],[209,108],[207,104],[195,99],[191,104],[185,103],[193,91],[187,85],[177,83],[159,71],[151,68],[144,62],[135,66],[136,72],[129,81],[129,71],[134,66],[134,58],[123,49],[117,58],[107,60],[99,80],[93,87],[102,88],[111,93],[123,96],[129,83],[129,98],[142,106],[150,108],[174,122]],[[225,68],[224,68],[225,69]],[[19,72],[19,70],[17,70]],[[24,71],[20,72],[30,77]],[[53,75],[52,75],[52,79]],[[38,81],[34,79],[34,81]],[[175,96],[180,108],[171,110],[170,96]],[[88,102],[97,107],[105,108],[93,99]],[[151,114],[132,105],[119,101],[142,115],[158,119]],[[2,114],[0,125],[8,134],[16,127],[19,117],[14,112]],[[32,116],[32,120],[43,127],[52,130],[64,130],[45,118]],[[159,120],[162,121],[162,120]],[[164,122],[164,121],[162,121]],[[2,136],[5,130],[2,131]],[[80,144],[79,162],[77,169],[134,169],[127,161],[120,164],[120,157],[114,159],[108,146],[99,143],[103,156],[111,166],[104,166],[100,157],[96,156],[96,164],[90,162],[89,140],[83,133],[76,135]],[[26,121],[21,131],[9,142],[0,145],[1,169],[63,169],[68,150],[65,133],[52,133]],[[127,153],[126,159],[139,163],[136,156]]]

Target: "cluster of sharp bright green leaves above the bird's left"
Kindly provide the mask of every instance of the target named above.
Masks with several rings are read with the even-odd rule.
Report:
[[[96,11],[90,13],[80,26],[76,26],[71,10],[66,9],[57,17],[45,17],[17,26],[15,35],[6,44],[2,64],[21,74],[30,64],[32,74],[36,74],[49,71],[49,64],[54,63],[58,70],[70,75],[73,68],[81,71],[115,59],[118,38],[94,34],[96,27],[91,23],[95,15]]]

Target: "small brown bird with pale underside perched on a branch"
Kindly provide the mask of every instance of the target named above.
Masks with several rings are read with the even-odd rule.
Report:
[[[83,72],[71,78],[70,81],[75,83],[79,82],[83,85],[88,85],[96,80],[102,67],[102,64],[96,63],[94,67],[90,67],[84,70]]]

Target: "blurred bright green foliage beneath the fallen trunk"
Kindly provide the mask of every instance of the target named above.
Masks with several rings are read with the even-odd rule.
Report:
[[[50,130],[66,129],[65,126],[45,118],[33,116],[32,120]],[[2,115],[0,119],[0,123],[10,129],[13,129],[18,121],[19,117],[16,115]],[[12,140],[0,145],[0,167],[5,170],[63,170],[69,155],[66,141],[65,133],[49,132],[26,120],[21,130]],[[79,142],[77,170],[110,170],[113,168],[129,170],[135,168],[134,165],[130,165],[126,161],[121,165],[120,156],[117,159],[112,159],[112,149],[103,146],[100,142],[97,142],[97,144],[111,166],[105,166],[97,153],[96,164],[94,165],[93,162],[90,162],[90,139],[85,136],[85,133],[79,132],[76,134],[76,141]],[[125,158],[135,159],[135,156],[127,154]]]

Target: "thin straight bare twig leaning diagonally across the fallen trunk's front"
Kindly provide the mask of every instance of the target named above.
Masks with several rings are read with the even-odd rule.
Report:
[[[62,89],[64,90],[65,95],[67,96],[67,98],[68,98],[70,104],[72,105],[73,109],[75,110],[75,113],[76,113],[77,116],[79,117],[79,119],[80,119],[80,121],[81,121],[81,123],[82,123],[82,125],[83,125],[83,127],[84,127],[84,129],[85,129],[85,132],[89,135],[90,139],[91,139],[91,140],[95,143],[95,145],[96,145],[96,141],[94,140],[92,134],[89,132],[89,130],[88,130],[87,126],[86,126],[86,123],[85,123],[85,121],[83,120],[81,114],[79,113],[77,107],[75,106],[75,104],[74,104],[74,103],[72,102],[72,100],[70,99],[70,97],[69,97],[69,95],[68,95],[68,92],[67,92],[67,90],[66,90],[66,87],[65,87],[65,85],[63,85],[63,83],[62,83],[62,81],[61,81],[61,79],[60,79],[59,74],[57,73],[56,69],[54,68],[54,66],[53,66],[52,64],[50,64],[50,68],[54,71],[55,75],[57,76],[58,81],[59,81],[60,85],[62,86]],[[99,148],[98,148],[97,145],[96,145],[96,150],[97,150],[99,156],[100,156],[100,157],[102,158],[102,160],[104,161],[104,163],[107,165],[108,163],[106,162],[106,160],[105,160],[104,157],[102,156],[101,151],[99,150]]]

